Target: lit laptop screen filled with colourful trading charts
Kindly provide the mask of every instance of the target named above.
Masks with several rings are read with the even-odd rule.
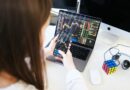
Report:
[[[59,41],[66,39],[73,44],[93,48],[100,22],[101,20],[95,17],[61,10],[55,35],[60,35]]]

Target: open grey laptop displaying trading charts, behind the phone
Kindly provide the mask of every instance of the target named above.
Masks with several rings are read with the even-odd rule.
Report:
[[[59,35],[53,52],[54,56],[62,58],[58,50],[66,53],[71,43],[70,51],[74,64],[79,71],[84,71],[93,51],[100,23],[99,18],[60,10],[54,35]]]

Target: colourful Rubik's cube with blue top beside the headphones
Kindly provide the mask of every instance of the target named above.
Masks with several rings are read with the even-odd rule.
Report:
[[[117,64],[115,63],[115,60],[107,60],[103,63],[103,70],[106,72],[106,74],[112,74],[117,70]]]

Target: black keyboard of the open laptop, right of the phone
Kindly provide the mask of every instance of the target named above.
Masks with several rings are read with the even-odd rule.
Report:
[[[77,45],[71,45],[70,51],[72,56],[81,60],[86,60],[90,54],[90,49],[79,47]]]

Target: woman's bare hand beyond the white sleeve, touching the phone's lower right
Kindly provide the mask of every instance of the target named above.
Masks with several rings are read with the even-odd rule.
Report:
[[[70,50],[68,49],[67,53],[65,54],[63,51],[59,50],[59,53],[62,55],[63,59],[62,62],[64,64],[64,66],[68,69],[68,70],[73,70],[76,69],[74,62],[73,62],[73,57],[72,54],[70,52]]]

